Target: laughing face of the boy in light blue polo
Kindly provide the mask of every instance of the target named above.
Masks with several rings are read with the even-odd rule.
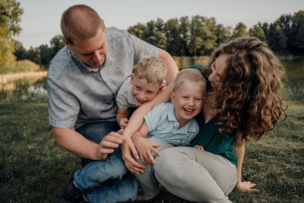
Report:
[[[191,82],[183,82],[171,92],[171,100],[174,103],[174,114],[178,123],[187,123],[202,109],[203,88]]]

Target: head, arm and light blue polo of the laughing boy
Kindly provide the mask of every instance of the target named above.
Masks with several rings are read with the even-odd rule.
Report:
[[[193,117],[201,111],[205,95],[206,79],[199,70],[184,69],[178,73],[170,93],[172,103],[155,106],[131,137],[143,163],[155,163],[151,152],[159,155],[152,146],[147,150],[146,138],[163,140],[174,146],[190,143],[199,132],[199,126]],[[202,149],[198,145],[195,148]]]

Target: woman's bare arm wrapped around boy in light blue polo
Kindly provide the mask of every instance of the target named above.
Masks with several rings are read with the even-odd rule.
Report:
[[[136,159],[140,158],[131,140],[131,137],[136,131],[138,131],[140,126],[143,124],[144,121],[143,117],[150,110],[152,110],[153,107],[163,102],[170,101],[170,92],[172,90],[173,90],[173,83],[171,83],[166,88],[164,88],[160,93],[158,93],[154,98],[154,100],[143,103],[140,107],[138,107],[130,117],[126,129],[123,131],[122,135],[124,137],[124,141],[121,144],[123,160],[125,161],[127,168],[133,173],[143,172],[143,167],[145,166],[136,162],[131,155],[132,152],[133,156],[136,157]]]

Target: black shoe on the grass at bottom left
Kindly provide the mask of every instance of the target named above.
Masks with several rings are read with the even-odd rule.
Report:
[[[72,203],[78,202],[78,198],[81,196],[83,190],[74,185],[74,174],[67,181],[63,190],[59,193],[56,203]]]

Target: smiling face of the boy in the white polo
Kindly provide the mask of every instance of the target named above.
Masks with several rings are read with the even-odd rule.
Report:
[[[130,83],[132,87],[132,96],[136,105],[140,106],[147,101],[155,98],[164,85],[149,84],[146,79],[139,79],[132,73]]]

